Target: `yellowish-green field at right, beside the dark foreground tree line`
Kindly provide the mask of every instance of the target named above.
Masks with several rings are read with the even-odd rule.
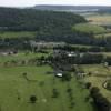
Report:
[[[88,64],[81,65],[84,72],[91,72],[91,77],[84,78],[85,82],[91,82],[93,87],[98,87],[100,92],[111,101],[111,91],[103,88],[104,81],[111,77],[111,67],[109,69],[104,68],[103,64]]]

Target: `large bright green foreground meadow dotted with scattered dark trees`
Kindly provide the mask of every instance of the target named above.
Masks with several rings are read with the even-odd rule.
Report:
[[[70,82],[48,74],[53,71],[49,65],[0,68],[0,110],[1,111],[93,111],[85,101],[89,91],[73,78]],[[28,81],[22,73],[27,73]],[[73,91],[74,107],[70,108],[68,88]],[[52,98],[57,89],[58,98]],[[31,103],[30,97],[37,102]]]

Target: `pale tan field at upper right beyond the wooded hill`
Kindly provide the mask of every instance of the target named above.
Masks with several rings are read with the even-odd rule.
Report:
[[[111,14],[93,14],[85,18],[92,24],[111,24]]]

